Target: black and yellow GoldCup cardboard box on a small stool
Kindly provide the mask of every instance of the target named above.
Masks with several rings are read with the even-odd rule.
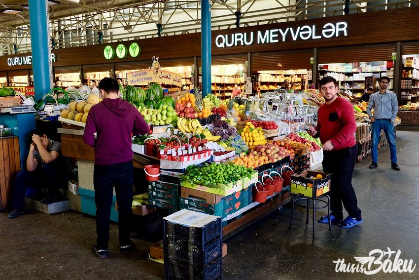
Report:
[[[310,179],[309,176],[321,174],[323,179]],[[291,194],[301,195],[308,198],[316,198],[330,191],[331,174],[304,170],[301,173],[291,175]]]

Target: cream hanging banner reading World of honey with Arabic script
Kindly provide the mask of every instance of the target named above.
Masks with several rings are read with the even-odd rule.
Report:
[[[182,86],[182,76],[180,74],[165,70],[144,69],[128,72],[127,76],[128,85],[156,82]]]

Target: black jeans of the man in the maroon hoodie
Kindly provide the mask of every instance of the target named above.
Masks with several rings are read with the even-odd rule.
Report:
[[[107,249],[109,242],[110,207],[112,206],[113,187],[118,203],[119,243],[121,246],[131,242],[131,216],[133,203],[133,162],[109,165],[95,164],[93,185],[96,203],[96,234],[98,245]]]

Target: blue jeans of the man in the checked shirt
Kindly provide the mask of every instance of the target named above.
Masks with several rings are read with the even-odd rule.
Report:
[[[390,122],[390,120],[386,119],[375,120],[372,123],[372,161],[377,163],[378,160],[378,142],[380,140],[380,133],[382,129],[384,130],[385,137],[387,137],[388,145],[390,145],[391,163],[397,163],[396,135],[394,133],[394,125]]]

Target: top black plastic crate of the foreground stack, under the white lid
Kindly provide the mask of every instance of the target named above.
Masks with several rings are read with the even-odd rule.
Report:
[[[205,225],[202,228],[191,228],[188,226],[172,223],[164,220],[164,239],[165,241],[186,240],[203,250],[216,240],[222,240],[223,231],[221,217]],[[190,236],[193,235],[193,236]]]

